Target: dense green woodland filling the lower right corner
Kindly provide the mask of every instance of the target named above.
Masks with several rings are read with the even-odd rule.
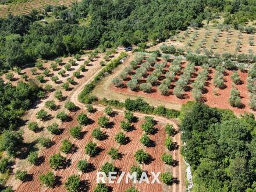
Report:
[[[237,118],[201,102],[186,105],[180,123],[186,143],[182,154],[193,170],[193,191],[255,191],[254,115]]]

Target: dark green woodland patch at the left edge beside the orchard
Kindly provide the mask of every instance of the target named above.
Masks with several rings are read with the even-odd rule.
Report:
[[[3,83],[0,79],[0,132],[3,130],[17,130],[20,116],[30,108],[40,88],[33,82]]]

